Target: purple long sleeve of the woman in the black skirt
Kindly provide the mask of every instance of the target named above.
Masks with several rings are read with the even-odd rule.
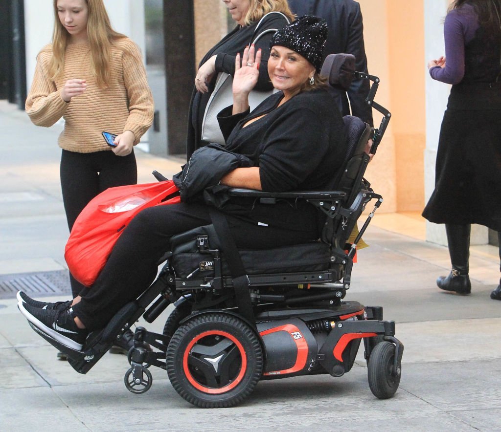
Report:
[[[434,80],[458,84],[464,77],[464,47],[478,29],[478,18],[471,5],[465,4],[451,10],[445,17],[443,34],[445,40],[445,68],[430,68]]]

